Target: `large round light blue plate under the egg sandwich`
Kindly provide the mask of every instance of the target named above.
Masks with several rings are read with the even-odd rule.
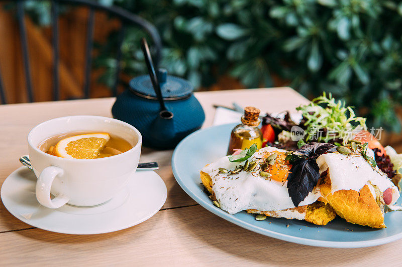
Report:
[[[304,220],[270,218],[257,221],[254,215],[239,212],[230,215],[217,208],[204,191],[199,170],[224,156],[234,124],[202,129],[183,139],[172,157],[173,174],[183,190],[212,213],[243,228],[289,242],[327,247],[366,247],[402,238],[402,211],[385,214],[387,228],[372,229],[351,224],[339,216],[325,226]],[[400,202],[401,198],[398,199]]]

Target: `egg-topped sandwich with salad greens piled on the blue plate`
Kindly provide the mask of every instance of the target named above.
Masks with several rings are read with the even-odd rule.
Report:
[[[252,145],[200,171],[217,206],[230,214],[256,213],[257,220],[270,216],[326,225],[339,215],[351,223],[386,227],[385,209],[398,209],[399,167],[391,161],[402,161],[400,155],[384,149],[350,108],[331,97],[319,100],[299,108],[303,119],[298,125],[289,117],[268,115],[264,126],[270,123],[276,133],[264,140],[266,146]],[[319,105],[323,100],[324,107]],[[329,133],[329,122],[338,124],[333,136],[314,139],[310,129],[301,141],[291,139],[292,126],[307,130],[315,124],[315,130]],[[346,130],[352,134],[341,132]]]

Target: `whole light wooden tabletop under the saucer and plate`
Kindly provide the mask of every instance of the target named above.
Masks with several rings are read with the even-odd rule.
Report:
[[[213,104],[254,105],[263,111],[294,111],[307,100],[290,88],[195,93],[214,118]],[[40,122],[68,115],[111,116],[113,98],[0,106],[0,185],[28,153],[26,137]],[[140,162],[158,161],[168,196],[149,220],[125,230],[70,235],[32,227],[0,204],[0,265],[375,265],[402,264],[402,240],[355,249],[299,245],[270,238],[230,223],[194,202],[176,183],[172,150],[143,148]],[[402,223],[402,222],[401,222]],[[392,265],[391,265],[392,266]]]

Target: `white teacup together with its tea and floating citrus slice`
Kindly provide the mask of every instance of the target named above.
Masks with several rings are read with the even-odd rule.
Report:
[[[80,135],[84,137],[77,138]],[[67,142],[74,138],[75,143]],[[75,145],[78,141],[88,142],[85,138],[94,143],[104,139],[99,141],[104,143],[97,147],[96,155],[82,159],[75,153],[82,144]],[[121,192],[136,171],[141,143],[136,128],[107,117],[69,116],[39,124],[28,134],[29,156],[38,177],[39,203],[58,208],[66,203],[94,206],[110,200]],[[58,144],[61,144],[56,149],[59,154],[55,150]],[[93,150],[93,146],[89,148]],[[51,199],[50,194],[55,197]]]

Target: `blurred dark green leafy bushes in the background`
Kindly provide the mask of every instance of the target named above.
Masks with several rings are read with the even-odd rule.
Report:
[[[32,1],[28,1],[32,2]],[[399,132],[402,3],[381,0],[102,0],[153,23],[163,39],[161,66],[197,88],[229,74],[246,87],[272,75],[312,98],[323,91],[356,107],[367,125]],[[46,21],[43,15],[38,16]],[[137,29],[123,44],[123,70],[145,72]],[[94,61],[112,83],[112,35]],[[269,101],[269,100],[267,100]],[[284,101],[286,101],[284,99]]]

